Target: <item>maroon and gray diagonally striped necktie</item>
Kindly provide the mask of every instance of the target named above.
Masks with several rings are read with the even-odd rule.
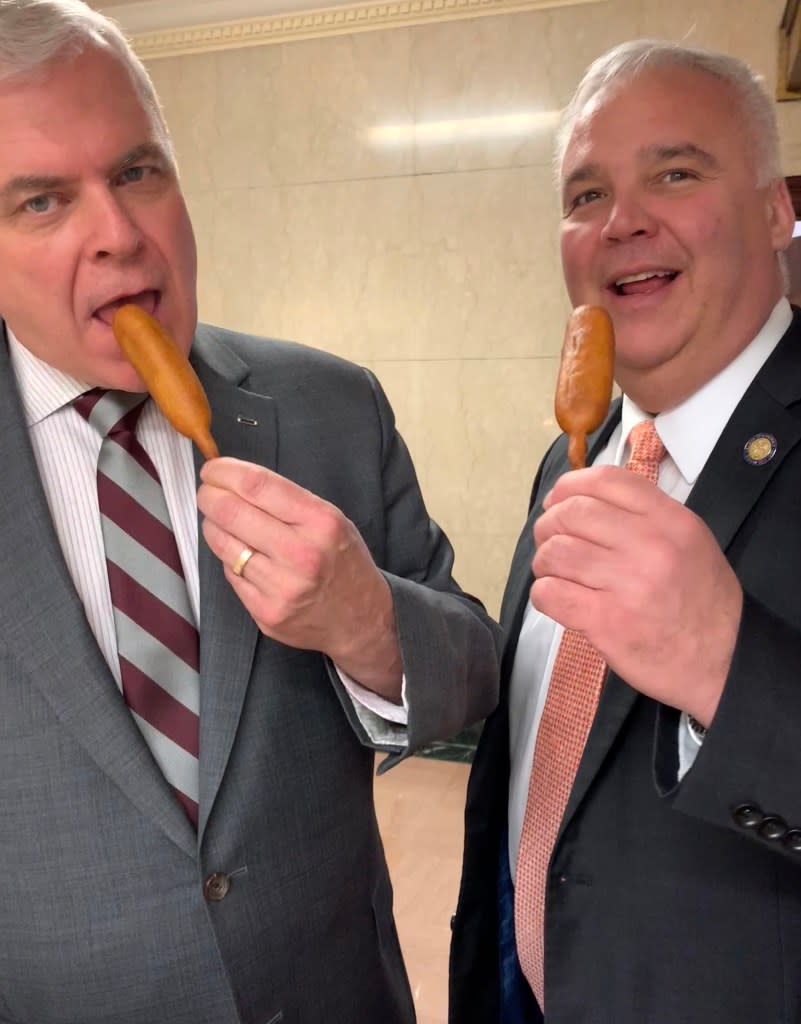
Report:
[[[75,408],[102,437],[97,503],[123,696],[197,826],[200,638],[159,474],[136,439],[146,398],[95,388]]]

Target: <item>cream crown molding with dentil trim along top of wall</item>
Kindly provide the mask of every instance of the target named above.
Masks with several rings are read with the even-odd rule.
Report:
[[[119,7],[107,4],[103,9],[116,17],[123,29],[132,36],[133,46],[138,55],[144,60],[154,60],[188,53],[265,46],[271,43],[483,17],[490,14],[512,14],[606,2],[607,0],[388,0],[388,2],[342,3],[311,10],[284,11],[233,22],[156,28],[153,31],[132,29],[130,19],[126,16],[126,12],[130,12],[133,8],[144,6],[141,3],[127,6],[123,4]],[[197,10],[198,6],[200,5],[196,0],[194,9]]]

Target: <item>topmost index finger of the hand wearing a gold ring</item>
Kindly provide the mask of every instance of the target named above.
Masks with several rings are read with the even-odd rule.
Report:
[[[241,459],[221,458],[201,469],[204,483],[229,490],[249,505],[268,512],[282,522],[303,522],[310,510],[325,504],[317,495],[264,466]]]

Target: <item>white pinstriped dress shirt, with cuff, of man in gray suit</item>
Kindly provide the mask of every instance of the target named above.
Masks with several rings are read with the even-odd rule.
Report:
[[[30,352],[8,331],[11,366],[55,531],[86,617],[117,685],[121,686],[114,612],[97,506],[96,470],[102,438],[72,406],[91,385]],[[149,401],[136,436],[161,478],[189,603],[200,628],[198,506],[192,441]],[[337,670],[360,721],[376,742],[406,743],[404,707],[384,700]],[[404,686],[406,691],[406,686]]]

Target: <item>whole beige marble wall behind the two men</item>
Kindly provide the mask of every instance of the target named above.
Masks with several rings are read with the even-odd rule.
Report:
[[[495,613],[539,460],[568,304],[552,118],[387,145],[371,129],[563,105],[637,36],[748,59],[773,88],[785,0],[599,0],[154,59],[200,247],[203,318],[374,370],[456,575]],[[778,104],[801,173],[801,103]]]

